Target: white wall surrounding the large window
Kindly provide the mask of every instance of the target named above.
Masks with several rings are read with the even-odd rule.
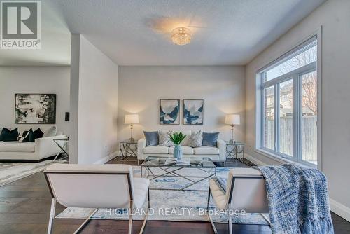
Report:
[[[332,210],[350,221],[350,1],[329,0],[255,57],[246,67],[246,143],[248,154],[266,164],[279,164],[255,153],[255,74],[286,53],[321,25],[321,153]]]

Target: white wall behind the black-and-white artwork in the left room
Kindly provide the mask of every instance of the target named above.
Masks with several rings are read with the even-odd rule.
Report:
[[[20,130],[52,125],[15,124],[16,93],[56,94],[56,124],[67,133],[64,113],[69,111],[69,67],[0,67],[0,127],[19,127]]]

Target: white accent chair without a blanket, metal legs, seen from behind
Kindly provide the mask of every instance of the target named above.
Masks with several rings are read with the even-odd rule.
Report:
[[[149,179],[132,177],[130,165],[55,164],[44,171],[52,195],[48,233],[52,233],[56,202],[65,207],[95,208],[76,230],[78,233],[99,208],[129,209],[129,233],[132,233],[132,209],[142,208],[149,200]],[[140,233],[144,231],[148,210]]]

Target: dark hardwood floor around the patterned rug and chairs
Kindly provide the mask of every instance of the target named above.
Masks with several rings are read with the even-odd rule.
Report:
[[[112,160],[109,163],[121,163]],[[136,162],[123,161],[131,165]],[[235,162],[229,162],[227,167],[239,166]],[[247,165],[241,165],[246,167]],[[50,192],[45,182],[43,172],[38,172],[24,179],[14,181],[11,184],[0,187],[0,233],[46,233],[48,216],[50,213]],[[62,212],[65,207],[57,204],[56,214]],[[335,233],[350,233],[350,223],[332,214]],[[81,219],[55,219],[53,233],[73,233]],[[127,233],[127,221],[92,220],[82,233]],[[218,233],[228,233],[227,224],[216,225]],[[134,221],[133,233],[139,233],[141,221]],[[267,234],[271,233],[269,227],[258,225],[233,225],[235,234]],[[214,233],[210,223],[200,221],[148,221],[144,233]]]

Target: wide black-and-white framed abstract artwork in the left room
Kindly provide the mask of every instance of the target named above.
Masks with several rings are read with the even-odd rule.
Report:
[[[15,123],[56,123],[56,95],[15,95]]]

